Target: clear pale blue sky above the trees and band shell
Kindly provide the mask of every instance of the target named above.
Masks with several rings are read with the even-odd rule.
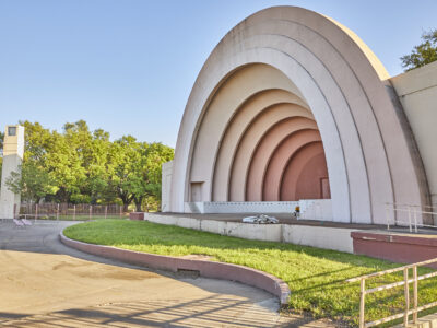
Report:
[[[209,54],[246,16],[280,4],[346,25],[391,75],[437,27],[435,0],[0,0],[0,129],[85,119],[111,139],[174,147]]]

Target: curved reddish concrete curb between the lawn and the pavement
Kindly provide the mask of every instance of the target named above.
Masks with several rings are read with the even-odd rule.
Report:
[[[237,281],[268,291],[280,298],[281,306],[288,303],[291,294],[288,285],[281,279],[256,269],[231,263],[185,259],[111,246],[93,245],[70,239],[63,235],[63,232],[59,234],[59,237],[64,245],[88,254],[173,272],[180,270],[198,271],[202,277]]]

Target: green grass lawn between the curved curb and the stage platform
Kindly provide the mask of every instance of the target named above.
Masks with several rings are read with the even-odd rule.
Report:
[[[248,241],[146,221],[103,220],[69,226],[66,236],[91,244],[110,245],[137,251],[184,256],[209,255],[213,260],[241,265],[272,273],[291,291],[290,308],[309,311],[316,317],[331,317],[356,326],[358,283],[349,278],[400,265],[365,256],[284,243]],[[420,269],[420,274],[430,269]],[[402,280],[400,274],[369,281],[368,288]],[[411,297],[412,298],[412,297]],[[366,320],[401,312],[403,286],[366,297]],[[437,300],[437,281],[420,282],[420,305]]]

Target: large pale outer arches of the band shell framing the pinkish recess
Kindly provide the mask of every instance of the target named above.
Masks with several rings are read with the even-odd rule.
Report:
[[[256,79],[257,70],[267,75]],[[178,134],[170,211],[184,212],[191,181],[202,181],[203,201],[223,195],[226,186],[212,185],[214,168],[222,167],[217,154],[226,138],[223,132],[247,99],[272,89],[287,91],[314,115],[334,221],[385,223],[386,202],[425,204],[423,172],[415,164],[420,160],[386,90],[387,78],[359,38],[323,15],[280,7],[249,16],[222,39],[194,83]],[[238,86],[237,95],[224,92],[233,85]],[[235,150],[229,147],[226,154]],[[220,174],[226,169],[220,168]],[[245,165],[238,173],[246,176],[248,169]],[[240,188],[246,192],[245,184]]]

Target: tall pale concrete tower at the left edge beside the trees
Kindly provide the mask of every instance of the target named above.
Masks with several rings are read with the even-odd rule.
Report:
[[[3,142],[3,167],[1,172],[0,219],[13,219],[21,197],[9,190],[7,180],[11,172],[17,172],[24,154],[24,127],[7,126]]]

